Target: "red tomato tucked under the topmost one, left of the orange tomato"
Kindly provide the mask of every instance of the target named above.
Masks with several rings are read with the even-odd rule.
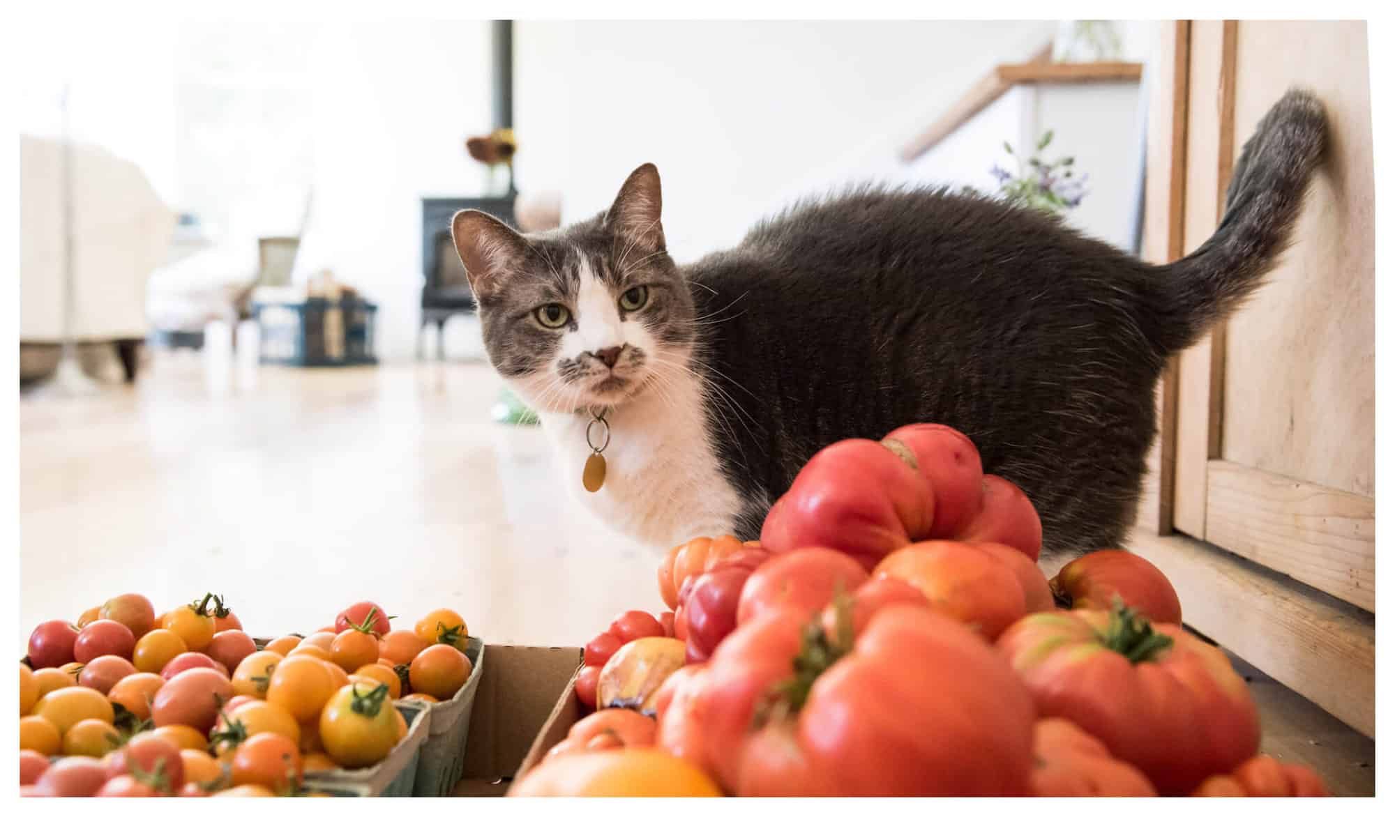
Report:
[[[866,580],[868,572],[857,559],[840,551],[799,548],[780,553],[746,579],[737,606],[737,623],[744,625],[778,606],[794,608],[808,618],[826,608],[834,594],[851,594]],[[688,623],[692,625],[692,618]]]

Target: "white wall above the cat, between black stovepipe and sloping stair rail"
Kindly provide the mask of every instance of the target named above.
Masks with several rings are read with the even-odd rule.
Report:
[[[534,22],[515,33],[519,187],[564,220],[643,162],[675,258],[730,245],[804,192],[875,170],[1055,22]]]

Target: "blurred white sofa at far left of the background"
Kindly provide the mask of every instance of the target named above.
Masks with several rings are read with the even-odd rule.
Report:
[[[27,346],[52,351],[63,342],[63,153],[59,139],[20,139],[21,351]],[[74,339],[130,347],[149,329],[146,280],[169,258],[176,213],[140,167],[102,148],[74,144],[70,170]]]

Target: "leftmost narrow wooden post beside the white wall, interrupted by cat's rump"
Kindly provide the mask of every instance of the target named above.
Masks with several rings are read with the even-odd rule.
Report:
[[[1168,264],[1182,257],[1190,26],[1186,20],[1162,26],[1158,70],[1151,78],[1143,257],[1154,264]],[[1148,452],[1148,473],[1144,477],[1137,523],[1145,530],[1169,534],[1177,448],[1176,360],[1168,361],[1155,399],[1158,439]]]

